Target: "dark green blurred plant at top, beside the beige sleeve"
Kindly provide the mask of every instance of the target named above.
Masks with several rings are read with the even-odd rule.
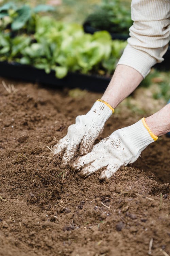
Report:
[[[102,0],[85,22],[96,29],[113,33],[129,33],[133,24],[130,8],[119,0]]]

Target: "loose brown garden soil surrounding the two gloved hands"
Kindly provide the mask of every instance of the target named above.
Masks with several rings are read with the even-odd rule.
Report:
[[[12,94],[0,85],[0,256],[146,256],[152,239],[151,255],[170,255],[170,139],[106,182],[100,171],[83,179],[48,162],[46,146],[100,94],[14,84]],[[102,137],[142,117],[119,112]]]

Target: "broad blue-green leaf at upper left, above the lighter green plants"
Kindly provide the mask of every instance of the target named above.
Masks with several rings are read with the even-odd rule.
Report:
[[[12,30],[19,30],[26,25],[27,21],[31,18],[31,8],[28,5],[23,5],[16,13],[17,17],[11,25]]]

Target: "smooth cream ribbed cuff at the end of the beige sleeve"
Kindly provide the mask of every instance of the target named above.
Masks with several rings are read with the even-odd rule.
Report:
[[[117,65],[119,64],[136,69],[145,78],[151,67],[156,64],[156,59],[128,44]]]

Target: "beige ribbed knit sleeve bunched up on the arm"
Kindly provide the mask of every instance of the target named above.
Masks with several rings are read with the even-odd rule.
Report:
[[[170,0],[132,0],[128,45],[118,62],[136,69],[143,77],[162,62],[170,40]]]

